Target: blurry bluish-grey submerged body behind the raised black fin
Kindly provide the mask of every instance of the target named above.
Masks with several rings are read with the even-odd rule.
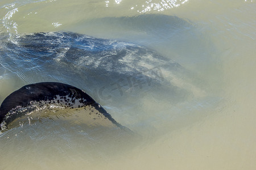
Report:
[[[31,33],[12,41],[2,35],[1,40],[2,76],[13,78],[17,84],[72,84],[107,105],[110,114],[126,117],[128,122],[138,113],[133,109],[124,115],[120,112],[140,105],[144,96],[171,106],[199,91],[178,63],[130,42],[72,32]]]

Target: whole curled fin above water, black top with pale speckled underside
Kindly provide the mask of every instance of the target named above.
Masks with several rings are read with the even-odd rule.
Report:
[[[74,117],[71,114],[79,116]],[[84,91],[63,83],[28,84],[7,96],[0,107],[0,122],[3,130],[13,128],[23,121],[42,122],[44,117],[76,118],[77,120],[73,122],[90,127],[113,127],[130,131],[118,124]]]

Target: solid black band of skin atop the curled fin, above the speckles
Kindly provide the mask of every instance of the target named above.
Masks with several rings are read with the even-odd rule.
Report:
[[[69,96],[73,99],[80,99],[84,105],[91,105],[102,113],[106,118],[112,121],[113,124],[122,128],[123,126],[118,124],[108,112],[105,111],[95,100],[92,99],[84,91],[77,87],[57,83],[57,82],[42,82],[35,84],[28,84],[23,86],[19,90],[14,91],[12,94],[3,100],[0,107],[0,122],[5,119],[5,116],[12,109],[17,107],[26,107],[31,101],[51,101],[56,99],[56,95]],[[64,98],[64,97],[63,97]]]

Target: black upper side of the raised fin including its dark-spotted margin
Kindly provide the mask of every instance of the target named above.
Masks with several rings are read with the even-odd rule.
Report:
[[[6,120],[6,115],[17,108],[24,108],[31,105],[33,102],[44,102],[48,104],[59,104],[65,108],[80,108],[90,106],[105,120],[112,122],[113,125],[119,128],[125,128],[118,124],[108,112],[105,111],[95,100],[92,99],[84,91],[77,87],[57,83],[57,82],[42,82],[28,84],[19,90],[14,91],[6,97],[0,107],[0,122],[5,121],[5,124],[13,121],[17,116]],[[19,117],[19,115],[18,115]]]

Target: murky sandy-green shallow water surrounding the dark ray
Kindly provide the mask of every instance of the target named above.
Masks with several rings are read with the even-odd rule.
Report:
[[[111,130],[88,135],[75,114],[53,116],[0,134],[1,169],[256,168],[255,1],[1,1],[0,6],[1,33],[7,35],[1,43],[15,44],[26,33],[71,31],[144,46],[185,70],[166,72],[161,86],[102,99],[99,89],[108,87],[102,82],[85,87],[79,74],[73,80],[67,74],[49,77],[53,69],[39,65],[37,73],[26,70],[25,61],[1,56],[1,102],[24,84],[69,82],[137,136]],[[168,100],[164,94],[177,89],[170,90],[170,82],[189,95]]]

